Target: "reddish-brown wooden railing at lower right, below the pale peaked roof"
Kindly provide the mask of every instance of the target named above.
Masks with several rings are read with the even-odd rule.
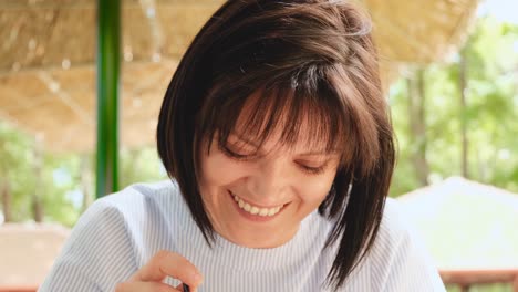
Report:
[[[508,283],[512,291],[518,292],[518,268],[495,270],[441,270],[441,278],[445,284],[455,284],[462,292],[477,284]]]

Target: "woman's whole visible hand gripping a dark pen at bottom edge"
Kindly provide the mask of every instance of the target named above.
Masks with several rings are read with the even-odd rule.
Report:
[[[196,288],[203,281],[203,277],[196,267],[184,257],[170,251],[159,251],[127,282],[117,284],[115,291],[183,292],[182,284],[173,288],[163,283],[166,277],[172,277],[189,285],[190,291],[196,291]]]

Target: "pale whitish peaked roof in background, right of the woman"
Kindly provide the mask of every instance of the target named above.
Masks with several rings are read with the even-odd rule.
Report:
[[[397,199],[441,269],[518,271],[518,194],[452,177]]]

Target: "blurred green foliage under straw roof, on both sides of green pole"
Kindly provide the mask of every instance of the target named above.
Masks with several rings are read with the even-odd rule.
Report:
[[[35,143],[31,135],[0,122],[0,189],[4,184],[10,186],[12,220],[32,220],[33,196],[39,195],[43,202],[44,220],[71,227],[83,210],[85,196],[81,182],[81,159],[86,157],[91,160],[86,171],[92,177],[94,160],[91,155],[52,154],[43,148],[39,176],[34,164],[34,148]],[[123,149],[120,159],[122,187],[167,178],[153,147]],[[94,189],[94,179],[90,181],[90,189]]]

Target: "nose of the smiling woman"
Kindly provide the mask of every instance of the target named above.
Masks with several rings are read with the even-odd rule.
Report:
[[[259,161],[247,182],[256,202],[267,206],[279,204],[290,189],[288,163],[281,158]]]

